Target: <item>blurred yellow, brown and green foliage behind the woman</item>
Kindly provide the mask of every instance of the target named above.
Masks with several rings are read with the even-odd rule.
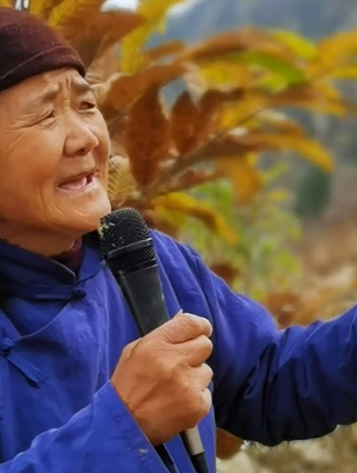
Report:
[[[356,113],[335,84],[357,78],[357,30],[312,42],[250,26],[149,47],[182,2],[140,0],[135,12],[103,11],[103,0],[29,0],[27,8],[88,68],[112,140],[113,206],[136,207],[152,227],[193,243],[235,289],[263,300],[281,327],[297,313],[306,323],[326,298],[289,290],[303,270],[293,251],[301,230],[277,183],[294,172],[292,156],[324,174],[333,159],[287,110]],[[183,90],[170,105],[163,90],[178,82]],[[239,442],[230,445],[218,455],[231,456]]]

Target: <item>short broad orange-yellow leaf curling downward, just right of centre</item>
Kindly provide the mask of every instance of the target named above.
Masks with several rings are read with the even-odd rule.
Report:
[[[259,172],[241,156],[219,158],[216,165],[217,169],[231,181],[237,203],[251,202],[261,189]]]

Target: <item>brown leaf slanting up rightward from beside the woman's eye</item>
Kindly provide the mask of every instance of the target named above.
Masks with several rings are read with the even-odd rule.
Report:
[[[151,86],[163,86],[178,79],[185,70],[180,65],[160,65],[144,69],[135,75],[120,75],[111,81],[101,108],[109,114],[116,113],[145,94]]]

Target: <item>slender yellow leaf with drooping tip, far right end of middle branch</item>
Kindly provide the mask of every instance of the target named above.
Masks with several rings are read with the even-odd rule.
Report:
[[[326,172],[331,172],[333,168],[333,159],[326,150],[317,141],[307,138],[301,138],[295,135],[265,135],[262,141],[267,148],[280,151],[296,151],[302,157],[311,163],[319,166]]]

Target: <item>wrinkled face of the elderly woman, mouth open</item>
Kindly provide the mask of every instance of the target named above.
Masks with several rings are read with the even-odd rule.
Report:
[[[74,69],[0,92],[0,228],[73,236],[96,229],[110,211],[109,145],[94,96]]]

